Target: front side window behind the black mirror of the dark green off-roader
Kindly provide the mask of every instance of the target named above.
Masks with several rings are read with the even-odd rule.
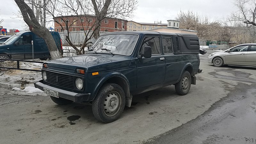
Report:
[[[144,53],[145,46],[151,47],[152,55],[153,54],[161,54],[160,38],[159,37],[152,37],[152,36],[145,37],[142,42],[142,45],[140,47],[139,55],[140,55],[140,52]]]

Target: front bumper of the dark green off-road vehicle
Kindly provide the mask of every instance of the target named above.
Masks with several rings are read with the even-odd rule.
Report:
[[[34,83],[35,87],[44,91],[44,88],[59,92],[59,97],[68,99],[68,100],[73,100],[75,102],[83,102],[83,101],[89,101],[89,98],[91,96],[91,93],[76,93],[76,92],[69,92],[65,91],[62,89],[58,89],[46,84],[42,83],[43,80],[40,80],[39,82]]]

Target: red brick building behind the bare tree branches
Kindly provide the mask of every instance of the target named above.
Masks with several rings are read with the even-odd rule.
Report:
[[[64,29],[60,27],[56,21],[54,22],[54,29],[57,32],[63,32],[65,29],[65,22],[68,21],[69,31],[83,31],[89,30],[94,24],[96,17],[92,15],[81,15],[80,19],[78,16],[60,16],[54,17],[54,20],[57,20]],[[73,23],[73,24],[72,24]],[[84,28],[86,29],[83,29]],[[94,27],[92,27],[94,30]],[[115,31],[127,31],[127,20],[108,18],[101,22],[100,31],[105,32],[115,32]]]

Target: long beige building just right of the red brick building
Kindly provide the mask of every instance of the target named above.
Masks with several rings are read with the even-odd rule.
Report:
[[[167,28],[167,24],[162,24],[161,22],[139,23],[132,20],[127,22],[127,31],[146,31],[156,28]]]

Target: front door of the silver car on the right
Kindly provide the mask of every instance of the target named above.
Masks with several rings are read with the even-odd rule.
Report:
[[[226,64],[246,64],[246,55],[249,45],[237,46],[226,52]]]

